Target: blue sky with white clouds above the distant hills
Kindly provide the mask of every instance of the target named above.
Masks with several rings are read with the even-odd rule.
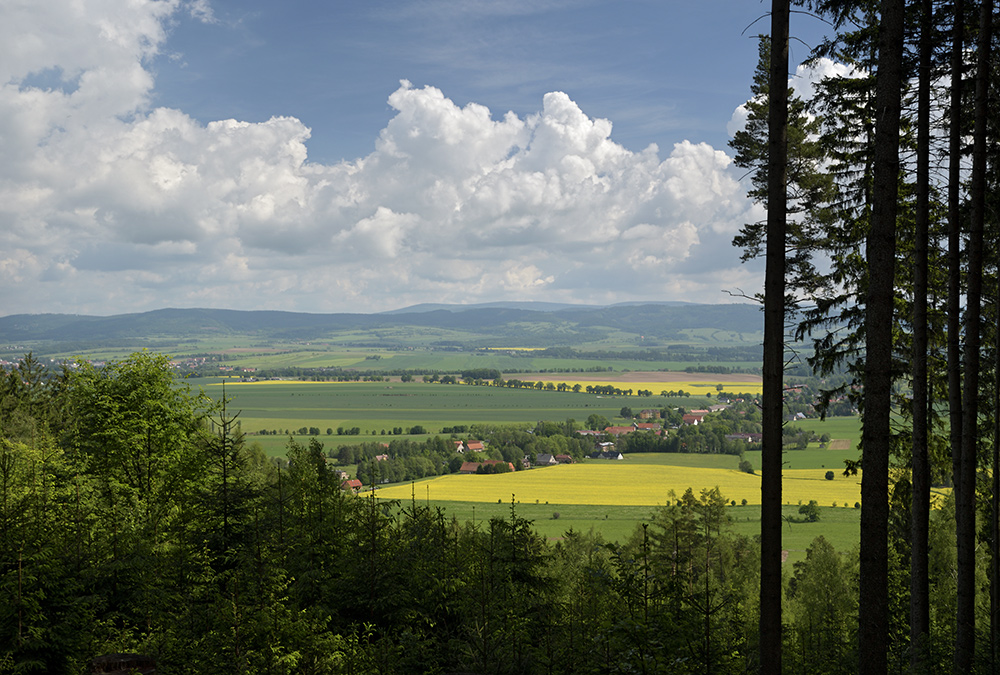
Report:
[[[766,10],[3,0],[0,315],[755,293],[727,141]]]

